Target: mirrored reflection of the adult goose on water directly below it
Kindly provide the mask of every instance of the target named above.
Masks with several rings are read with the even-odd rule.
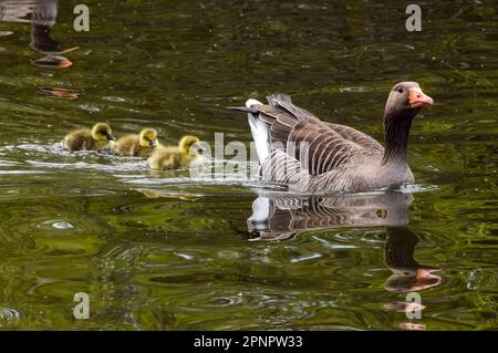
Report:
[[[385,281],[388,292],[415,292],[436,287],[438,269],[418,263],[414,258],[418,238],[408,225],[412,194],[391,191],[376,195],[289,196],[261,195],[252,203],[248,229],[252,239],[283,240],[301,232],[334,227],[385,227],[384,259],[393,272]],[[391,302],[387,310],[423,310],[411,301]],[[413,326],[413,328],[412,328]],[[419,324],[403,324],[419,330]]]

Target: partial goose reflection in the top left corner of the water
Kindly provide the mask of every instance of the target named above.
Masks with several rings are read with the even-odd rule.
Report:
[[[0,21],[31,23],[30,48],[45,54],[32,61],[32,64],[43,68],[65,69],[73,63],[61,54],[76,48],[63,49],[50,34],[58,17],[58,0],[11,0],[0,3]],[[12,32],[9,32],[11,34]]]

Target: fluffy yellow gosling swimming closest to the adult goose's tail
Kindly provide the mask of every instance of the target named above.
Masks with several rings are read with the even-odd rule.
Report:
[[[191,135],[181,137],[178,146],[158,147],[148,158],[152,169],[179,169],[186,168],[190,162],[201,155],[203,147],[199,138]]]

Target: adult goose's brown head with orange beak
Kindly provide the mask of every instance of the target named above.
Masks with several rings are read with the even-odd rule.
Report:
[[[433,98],[422,92],[418,83],[400,82],[390,92],[384,118],[413,118],[421,108],[433,103]]]

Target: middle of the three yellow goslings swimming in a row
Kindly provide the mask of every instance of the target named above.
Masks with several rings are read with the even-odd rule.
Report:
[[[144,128],[139,135],[131,134],[116,142],[116,152],[122,156],[148,157],[157,147],[157,131]]]

